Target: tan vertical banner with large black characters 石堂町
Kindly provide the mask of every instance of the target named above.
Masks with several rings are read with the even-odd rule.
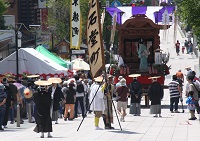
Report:
[[[100,69],[105,69],[99,11],[99,0],[90,0],[90,11],[87,19],[87,44],[90,71],[93,78],[98,76]]]

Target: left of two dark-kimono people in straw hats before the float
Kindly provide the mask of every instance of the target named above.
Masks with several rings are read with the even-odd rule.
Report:
[[[140,116],[141,114],[141,97],[142,97],[142,85],[137,80],[138,76],[133,77],[133,82],[130,84],[130,94],[131,94],[131,105],[130,114],[134,116]]]

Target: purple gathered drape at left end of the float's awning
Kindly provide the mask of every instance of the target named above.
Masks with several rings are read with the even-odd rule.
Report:
[[[113,16],[115,11],[117,12],[117,23],[118,24],[122,24],[122,13],[123,11],[121,11],[120,9],[116,8],[116,7],[106,7],[106,11],[111,15]]]

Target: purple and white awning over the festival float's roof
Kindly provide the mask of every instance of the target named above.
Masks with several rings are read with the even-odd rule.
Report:
[[[175,6],[120,6],[112,9],[106,8],[106,11],[108,11],[111,16],[115,13],[113,11],[118,13],[116,19],[118,24],[123,24],[127,19],[137,14],[145,14],[155,23],[161,22],[162,14],[165,10],[167,10],[168,14],[171,14],[175,10]]]

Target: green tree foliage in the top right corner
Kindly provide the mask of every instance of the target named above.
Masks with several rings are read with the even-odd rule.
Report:
[[[199,0],[176,0],[178,16],[186,25],[192,27],[194,34],[200,36],[200,1]]]

